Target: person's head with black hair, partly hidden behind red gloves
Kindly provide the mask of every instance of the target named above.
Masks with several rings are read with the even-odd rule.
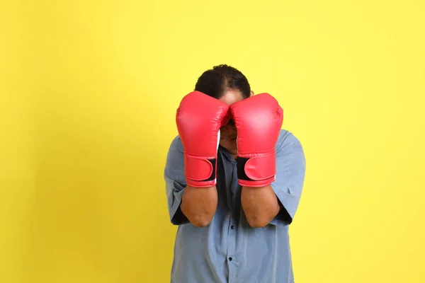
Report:
[[[196,82],[195,91],[200,91],[222,100],[227,104],[235,103],[253,95],[246,76],[228,65],[218,65],[205,71]],[[220,146],[237,154],[237,129],[233,120],[220,129]]]

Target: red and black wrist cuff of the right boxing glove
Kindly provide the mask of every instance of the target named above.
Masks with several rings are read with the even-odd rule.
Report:
[[[276,151],[252,157],[237,157],[239,185],[262,187],[269,185],[276,176]]]

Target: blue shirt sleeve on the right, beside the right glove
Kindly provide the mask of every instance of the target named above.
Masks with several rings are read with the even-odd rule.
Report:
[[[293,134],[278,140],[276,149],[276,180],[271,187],[283,209],[270,224],[291,224],[297,211],[305,178],[305,155],[300,141]]]

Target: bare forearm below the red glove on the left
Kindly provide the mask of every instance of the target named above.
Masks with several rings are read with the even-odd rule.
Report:
[[[181,212],[198,227],[208,226],[217,209],[217,188],[188,185],[181,199]]]

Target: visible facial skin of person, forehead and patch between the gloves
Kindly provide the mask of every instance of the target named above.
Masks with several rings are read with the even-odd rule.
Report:
[[[231,105],[232,103],[236,103],[240,100],[244,99],[242,93],[237,90],[228,90],[226,93],[220,98],[220,100],[224,103]],[[234,121],[229,120],[225,127],[220,129],[220,146],[224,147],[229,151],[230,154],[236,156],[237,155],[237,129],[234,126]]]

